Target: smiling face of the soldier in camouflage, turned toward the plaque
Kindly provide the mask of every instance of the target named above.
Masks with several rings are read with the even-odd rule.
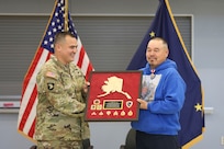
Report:
[[[69,64],[74,61],[77,51],[77,39],[75,37],[66,36],[65,41],[59,43],[59,59],[63,64]]]

